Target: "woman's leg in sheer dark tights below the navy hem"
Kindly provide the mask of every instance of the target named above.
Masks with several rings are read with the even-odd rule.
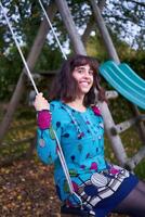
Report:
[[[145,217],[145,183],[140,181],[114,212],[132,217]]]

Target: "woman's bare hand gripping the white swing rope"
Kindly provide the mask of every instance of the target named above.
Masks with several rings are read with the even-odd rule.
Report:
[[[48,100],[45,100],[43,98],[42,92],[40,92],[36,95],[34,106],[35,106],[36,111],[38,111],[38,112],[42,111],[42,110],[50,110],[50,104],[49,104]]]

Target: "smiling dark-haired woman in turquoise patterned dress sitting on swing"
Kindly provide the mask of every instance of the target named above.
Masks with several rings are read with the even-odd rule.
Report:
[[[83,206],[95,216],[110,212],[145,216],[145,183],[128,170],[104,158],[104,124],[97,99],[105,100],[98,82],[98,64],[94,59],[75,55],[67,60],[56,76],[50,94],[36,97],[38,111],[38,155],[45,164],[54,163],[57,194],[66,205],[79,206],[69,193],[57,156],[61,142],[75,192]]]

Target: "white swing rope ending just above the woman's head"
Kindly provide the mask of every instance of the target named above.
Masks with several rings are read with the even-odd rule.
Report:
[[[54,37],[55,37],[55,39],[56,39],[56,42],[57,42],[57,44],[58,44],[58,47],[60,47],[60,50],[62,51],[62,54],[63,54],[64,59],[67,60],[67,56],[66,56],[66,54],[65,54],[65,52],[64,52],[64,50],[63,50],[63,48],[62,48],[62,44],[61,44],[61,42],[60,42],[60,40],[58,40],[58,37],[57,37],[57,35],[55,34],[55,30],[54,30],[54,28],[53,28],[53,26],[52,26],[52,24],[51,24],[51,21],[50,21],[48,14],[47,14],[47,11],[45,11],[45,9],[43,8],[43,4],[42,4],[41,0],[38,0],[38,1],[39,1],[39,4],[40,4],[40,7],[41,7],[41,9],[42,9],[42,11],[43,11],[43,13],[44,13],[44,16],[45,16],[45,18],[47,18],[47,21],[48,21],[48,23],[49,23],[51,29],[52,29],[52,33],[53,33],[53,35],[54,35]]]

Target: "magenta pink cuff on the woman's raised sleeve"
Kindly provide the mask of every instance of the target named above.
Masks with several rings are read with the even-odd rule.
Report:
[[[38,112],[38,127],[40,129],[48,129],[51,126],[51,113],[49,110],[42,110],[40,112]]]

